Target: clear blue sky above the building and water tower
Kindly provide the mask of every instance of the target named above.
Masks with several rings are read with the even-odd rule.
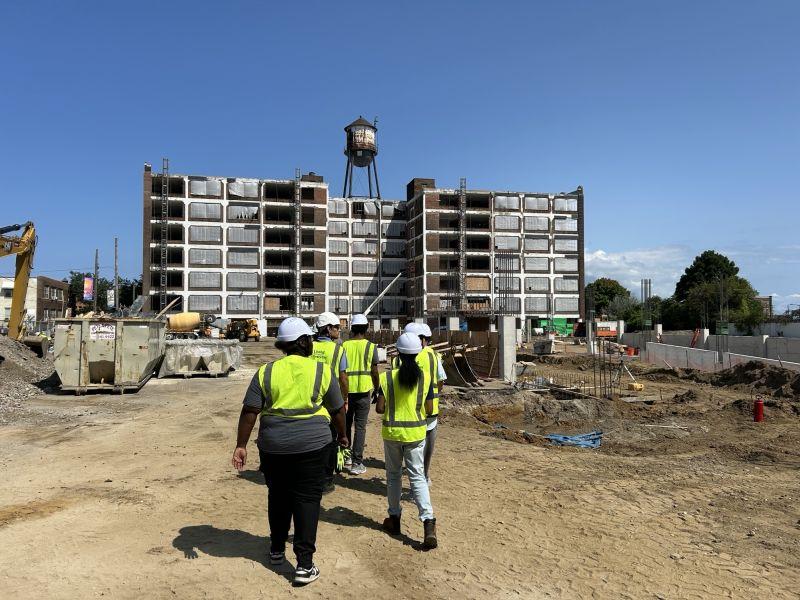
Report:
[[[384,197],[583,185],[590,278],[668,295],[712,248],[798,303],[799,20],[794,0],[7,4],[0,221],[36,222],[38,273],[99,246],[110,275],[116,235],[136,275],[144,162],[301,167],[339,194],[363,114]]]

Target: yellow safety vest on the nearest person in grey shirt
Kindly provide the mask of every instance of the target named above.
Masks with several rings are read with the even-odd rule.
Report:
[[[291,354],[258,370],[264,404],[262,415],[308,419],[331,416],[322,399],[331,385],[331,371],[305,356]]]

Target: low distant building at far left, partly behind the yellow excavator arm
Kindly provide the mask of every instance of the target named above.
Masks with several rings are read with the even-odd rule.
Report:
[[[0,277],[0,324],[7,326],[11,318],[13,277]],[[64,316],[69,285],[50,277],[31,277],[25,295],[24,322],[30,331],[47,331],[54,319]]]

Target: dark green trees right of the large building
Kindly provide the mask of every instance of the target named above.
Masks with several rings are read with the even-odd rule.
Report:
[[[695,257],[672,296],[652,296],[646,307],[615,279],[601,277],[586,286],[587,308],[593,300],[596,318],[623,319],[633,330],[643,328],[642,315],[649,313],[652,323],[661,323],[665,330],[707,327],[713,332],[718,324],[734,323],[752,333],[764,321],[756,295],[750,282],[739,276],[739,267],[713,250]]]

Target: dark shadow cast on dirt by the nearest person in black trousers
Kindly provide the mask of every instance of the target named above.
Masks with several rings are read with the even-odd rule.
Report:
[[[292,536],[289,536],[291,544]],[[282,565],[271,565],[268,559],[269,537],[253,535],[240,529],[217,529],[213,525],[188,525],[182,527],[172,540],[177,548],[188,559],[198,557],[198,550],[209,556],[218,558],[246,558],[264,565],[287,581],[292,581],[294,568],[285,562]]]

